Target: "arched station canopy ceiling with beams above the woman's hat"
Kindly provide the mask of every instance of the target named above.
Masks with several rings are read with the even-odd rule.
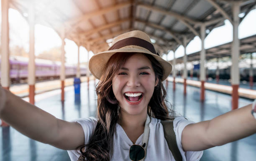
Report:
[[[10,8],[30,16],[34,6],[35,23],[53,28],[61,37],[94,53],[107,50],[111,39],[131,30],[150,35],[159,53],[176,50],[212,29],[233,21],[236,0],[10,0]],[[256,0],[240,0],[241,18],[255,8]],[[27,17],[26,17],[27,15]],[[229,48],[229,47],[228,47]]]

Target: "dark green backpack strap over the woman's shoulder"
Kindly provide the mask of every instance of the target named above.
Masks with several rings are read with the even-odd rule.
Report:
[[[173,121],[174,119],[166,121],[161,120],[161,124],[164,127],[164,138],[167,141],[168,147],[172,152],[175,161],[182,161],[182,155],[177,146],[176,135],[173,129]]]

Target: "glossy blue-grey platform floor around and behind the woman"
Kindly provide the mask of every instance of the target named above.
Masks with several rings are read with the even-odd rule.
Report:
[[[65,101],[61,103],[61,90],[57,89],[36,95],[35,105],[57,118],[72,121],[76,118],[95,116],[97,96],[95,83],[81,84],[81,94],[74,95],[74,87],[65,88]],[[199,122],[212,119],[231,110],[231,96],[215,91],[205,91],[205,101],[200,101],[200,88],[187,86],[187,96],[183,95],[183,84],[177,83],[173,91],[172,82],[166,86],[167,100],[178,115]],[[23,98],[28,100],[28,98]],[[239,107],[252,100],[239,98]],[[221,131],[220,131],[221,132]],[[233,143],[204,151],[201,161],[255,161],[256,134]],[[34,141],[12,127],[0,128],[0,161],[70,161],[67,151],[48,144]]]

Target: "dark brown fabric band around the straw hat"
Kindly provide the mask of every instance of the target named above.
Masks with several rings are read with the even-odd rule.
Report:
[[[153,44],[149,43],[146,40],[143,40],[141,38],[136,38],[136,37],[125,38],[123,40],[120,40],[120,41],[116,42],[114,45],[112,45],[108,50],[119,49],[119,48],[122,48],[122,47],[128,46],[128,45],[140,46],[142,48],[148,49],[151,53],[159,55],[158,53],[156,53],[156,50],[155,50]]]

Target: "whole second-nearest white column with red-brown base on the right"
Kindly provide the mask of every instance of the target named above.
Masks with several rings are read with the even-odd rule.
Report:
[[[200,52],[200,81],[201,81],[201,93],[200,100],[205,100],[205,25],[201,25],[201,41],[202,50]]]

